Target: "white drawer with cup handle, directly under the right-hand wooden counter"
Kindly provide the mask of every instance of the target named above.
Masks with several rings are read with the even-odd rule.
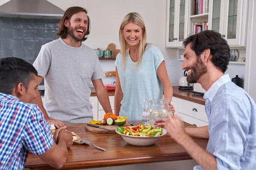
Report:
[[[200,105],[195,102],[190,102],[184,99],[178,99],[178,112],[187,116],[191,116],[195,119],[208,122],[207,114],[205,113],[204,105]]]

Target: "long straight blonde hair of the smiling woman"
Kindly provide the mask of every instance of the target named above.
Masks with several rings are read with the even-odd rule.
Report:
[[[142,61],[142,56],[145,51],[147,33],[146,33],[146,27],[145,27],[144,20],[141,17],[141,15],[138,14],[137,12],[132,12],[132,13],[127,14],[125,16],[125,18],[122,20],[122,23],[121,23],[121,26],[119,29],[119,42],[120,42],[120,47],[121,47],[120,53],[122,55],[122,61],[123,61],[124,69],[125,69],[126,68],[125,59],[126,59],[127,49],[129,48],[129,44],[125,40],[123,28],[126,24],[128,24],[130,22],[139,25],[143,30],[143,33],[142,33],[142,36],[141,36],[141,39],[139,42],[139,46],[137,48],[137,57],[138,57],[137,70],[139,70],[140,63]]]

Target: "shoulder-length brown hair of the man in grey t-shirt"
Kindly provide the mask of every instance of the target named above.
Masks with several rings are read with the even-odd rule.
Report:
[[[67,37],[67,27],[64,25],[65,20],[70,20],[70,18],[73,16],[73,14],[79,13],[79,12],[85,12],[87,14],[87,9],[82,8],[80,6],[72,6],[70,8],[67,8],[65,11],[63,17],[61,18],[61,22],[58,26],[58,33],[57,35],[60,36],[61,38],[66,38]],[[90,34],[90,18],[88,17],[88,28],[87,31],[84,34],[84,38],[81,41],[87,40],[88,35]]]

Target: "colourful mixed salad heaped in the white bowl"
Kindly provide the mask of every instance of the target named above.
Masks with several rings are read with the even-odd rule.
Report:
[[[116,131],[124,135],[130,135],[130,136],[153,137],[153,136],[160,136],[163,134],[163,129],[161,127],[152,127],[151,124],[148,124],[148,127],[146,127],[143,124],[140,124],[138,126],[132,126],[132,127],[118,126]]]

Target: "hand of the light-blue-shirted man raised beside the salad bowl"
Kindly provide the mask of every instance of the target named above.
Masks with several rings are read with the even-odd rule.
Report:
[[[180,120],[178,116],[167,116],[166,125],[164,128],[167,130],[168,134],[176,142],[180,144],[186,136],[184,122]]]

